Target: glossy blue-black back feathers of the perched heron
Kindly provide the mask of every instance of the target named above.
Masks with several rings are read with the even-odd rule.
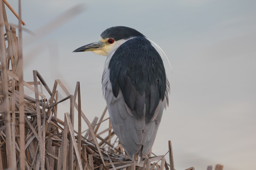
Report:
[[[166,91],[164,64],[156,49],[144,36],[134,37],[115,51],[109,69],[114,96],[121,89],[132,114],[150,121]]]

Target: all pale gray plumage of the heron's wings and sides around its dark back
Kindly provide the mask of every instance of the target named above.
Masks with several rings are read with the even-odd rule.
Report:
[[[107,103],[111,125],[118,136],[127,155],[134,161],[134,155],[145,157],[150,153],[153,146],[157,129],[161,121],[163,109],[168,104],[169,83],[167,80],[167,90],[165,99],[160,101],[150,122],[145,123],[145,118],[138,119],[127,107],[121,91],[118,96],[113,95],[108,69],[109,58],[105,62],[102,76],[102,91]]]

